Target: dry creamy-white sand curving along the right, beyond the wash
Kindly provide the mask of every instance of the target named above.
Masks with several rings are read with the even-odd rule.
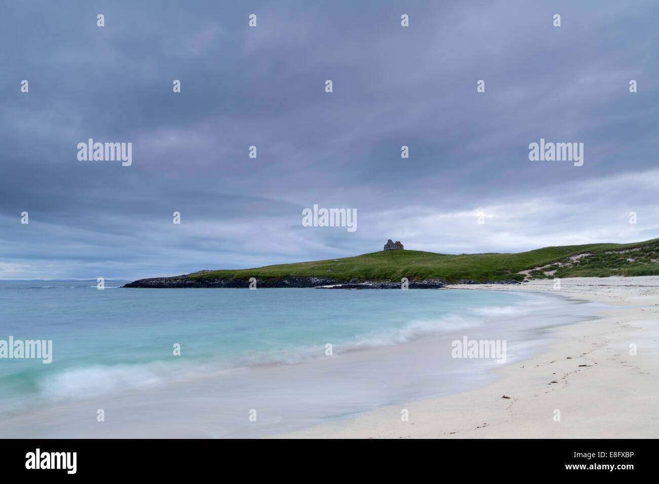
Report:
[[[452,287],[539,290],[610,304],[611,309],[602,313],[605,319],[558,328],[558,344],[526,362],[494,370],[501,378],[485,387],[276,437],[659,437],[659,277],[583,277],[561,279],[560,290],[553,286],[545,280]],[[636,356],[630,344],[637,346]],[[409,421],[401,421],[403,409]],[[555,410],[560,421],[554,419]]]

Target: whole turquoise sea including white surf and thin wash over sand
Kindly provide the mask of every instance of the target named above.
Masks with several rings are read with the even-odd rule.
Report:
[[[0,437],[265,437],[485,385],[599,309],[509,290],[123,284],[0,282],[0,346],[51,341],[49,363],[0,348]],[[505,342],[505,361],[465,358],[470,340]]]

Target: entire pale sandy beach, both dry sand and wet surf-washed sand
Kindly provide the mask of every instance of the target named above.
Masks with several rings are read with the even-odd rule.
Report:
[[[473,321],[467,321],[469,324],[465,326],[453,319],[453,313],[447,321],[451,327],[455,326],[453,329],[408,342],[343,352],[337,355],[339,358],[243,367],[190,381],[181,374],[174,381],[153,387],[90,395],[82,400],[44,402],[38,408],[0,419],[0,435],[9,438],[656,436],[654,416],[658,413],[659,395],[654,383],[659,365],[659,277],[561,279],[559,290],[554,290],[553,280],[515,286],[465,284],[434,294],[442,296],[443,291],[453,288],[496,291],[488,294],[490,300],[496,300],[493,306],[496,317],[486,311],[492,325],[474,326]],[[523,304],[507,306],[512,300],[504,296],[513,296],[501,294],[507,290],[538,291],[545,302],[538,298],[539,306],[535,303],[526,308]],[[431,293],[387,294],[408,298]],[[455,302],[455,298],[447,300]],[[468,313],[474,300],[482,298],[464,298],[457,314]],[[465,335],[507,340],[509,360],[504,365],[487,363],[483,367],[482,359],[451,358],[451,340]],[[632,343],[637,345],[637,356],[629,355]],[[445,379],[444,374],[455,376]],[[75,378],[72,381],[77,382]],[[80,384],[76,383],[75,388],[78,387]],[[378,393],[387,388],[400,390],[401,398]],[[403,396],[406,391],[407,395]],[[259,395],[270,397],[258,400]],[[346,407],[346,401],[358,402],[364,410],[356,413],[354,408]],[[258,408],[258,423],[247,421],[245,416],[250,408]],[[107,412],[107,422],[97,421],[98,409]],[[401,420],[402,410],[409,412],[409,421]],[[554,420],[556,410],[560,411],[560,421]],[[324,416],[329,417],[324,419]]]

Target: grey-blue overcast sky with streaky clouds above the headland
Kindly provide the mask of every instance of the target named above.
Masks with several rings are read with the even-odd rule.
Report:
[[[5,2],[0,279],[387,238],[449,254],[656,238],[657,18],[654,1]],[[88,138],[131,142],[132,165],[79,161]],[[530,161],[540,138],[583,143],[583,166]],[[357,209],[357,230],[303,227],[314,204]]]

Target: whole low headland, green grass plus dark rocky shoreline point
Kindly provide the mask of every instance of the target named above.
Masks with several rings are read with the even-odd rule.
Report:
[[[629,244],[545,247],[518,254],[436,254],[381,250],[355,257],[267,265],[254,269],[204,270],[130,282],[124,287],[435,288],[458,282],[523,282],[529,279],[659,275],[659,238]]]

